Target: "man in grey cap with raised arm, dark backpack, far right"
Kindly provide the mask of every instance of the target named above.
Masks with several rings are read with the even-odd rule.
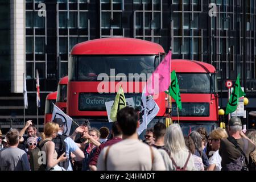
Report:
[[[247,171],[249,154],[255,150],[255,144],[242,131],[242,122],[233,117],[228,123],[228,138],[220,142],[221,171]]]

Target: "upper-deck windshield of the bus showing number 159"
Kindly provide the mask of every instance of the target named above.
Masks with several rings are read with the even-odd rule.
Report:
[[[214,73],[177,73],[180,93],[214,93]]]

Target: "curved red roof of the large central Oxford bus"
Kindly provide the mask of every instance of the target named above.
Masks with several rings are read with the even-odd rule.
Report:
[[[71,55],[157,55],[164,53],[159,44],[133,38],[104,38],[76,44]]]

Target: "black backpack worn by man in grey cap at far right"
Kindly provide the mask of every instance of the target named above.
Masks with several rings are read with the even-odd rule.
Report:
[[[241,156],[234,160],[233,162],[226,164],[224,167],[221,168],[221,171],[248,171],[248,162],[245,155],[245,152],[248,148],[248,140],[242,138],[243,140],[243,150],[238,146],[237,140],[233,137],[228,137],[229,142],[233,143],[234,146],[241,152]]]

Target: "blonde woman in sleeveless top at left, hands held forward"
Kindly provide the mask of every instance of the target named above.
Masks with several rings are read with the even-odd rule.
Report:
[[[65,152],[57,158],[57,152],[55,150],[55,143],[52,142],[53,138],[56,138],[59,131],[59,125],[53,122],[48,122],[44,126],[44,133],[42,134],[42,140],[39,142],[39,148],[42,152],[42,164],[40,170],[46,169],[47,171],[65,171],[63,167],[58,164],[67,160]]]

